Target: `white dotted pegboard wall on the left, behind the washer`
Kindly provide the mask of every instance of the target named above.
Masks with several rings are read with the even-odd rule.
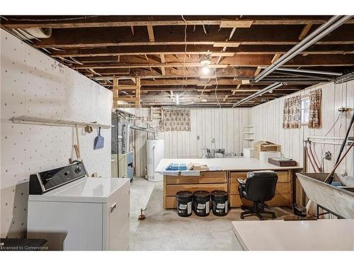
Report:
[[[112,93],[1,29],[1,238],[24,237],[28,177],[75,158],[75,128],[12,123],[37,116],[110,124]],[[89,174],[110,176],[110,129],[105,147],[93,150],[97,131],[79,128],[81,157]]]

